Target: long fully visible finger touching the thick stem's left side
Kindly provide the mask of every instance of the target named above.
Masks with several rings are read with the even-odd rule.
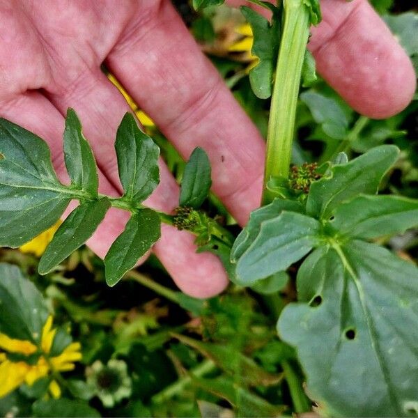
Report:
[[[264,141],[171,3],[128,27],[107,65],[183,157],[208,152],[212,189],[244,224],[261,198]]]

